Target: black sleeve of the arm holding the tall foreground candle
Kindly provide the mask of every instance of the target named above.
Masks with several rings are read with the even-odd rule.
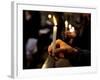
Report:
[[[90,66],[91,55],[88,50],[78,49],[73,55],[68,56],[65,54],[65,58],[68,58],[73,66]]]

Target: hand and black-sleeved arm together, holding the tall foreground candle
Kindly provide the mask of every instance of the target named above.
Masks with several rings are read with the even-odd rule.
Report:
[[[52,45],[48,47],[49,55],[52,56]],[[72,66],[90,66],[90,52],[73,48],[62,40],[56,40],[55,56],[70,60]]]

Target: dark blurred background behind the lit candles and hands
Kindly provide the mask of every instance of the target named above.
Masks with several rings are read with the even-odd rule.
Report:
[[[30,11],[23,10],[23,69],[41,68],[48,53],[48,45],[52,42],[52,19],[48,18],[48,14],[55,15],[57,19],[57,38],[65,41],[64,38],[64,21],[75,27],[78,36],[73,42],[73,46],[91,51],[91,14],[90,13],[71,13],[71,12],[47,12],[47,11]],[[29,19],[26,19],[27,16]],[[48,29],[46,34],[39,31]],[[29,38],[36,38],[38,51],[32,54],[32,61],[27,66],[25,46]]]

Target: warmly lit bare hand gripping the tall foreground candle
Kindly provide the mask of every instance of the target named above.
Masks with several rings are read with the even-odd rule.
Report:
[[[56,40],[56,49],[54,51],[55,56],[64,57],[64,54],[72,54],[73,52],[76,52],[76,51],[77,51],[77,49],[71,47],[70,45],[68,45],[64,41],[62,41],[60,39]],[[52,43],[48,47],[48,53],[49,53],[49,55],[53,56]]]

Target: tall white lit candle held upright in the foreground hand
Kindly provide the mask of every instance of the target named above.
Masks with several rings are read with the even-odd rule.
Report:
[[[56,35],[57,35],[57,21],[55,16],[53,16],[53,22],[54,22],[54,27],[53,27],[53,45],[52,45],[53,54],[52,55],[54,56],[54,50],[56,47]]]

